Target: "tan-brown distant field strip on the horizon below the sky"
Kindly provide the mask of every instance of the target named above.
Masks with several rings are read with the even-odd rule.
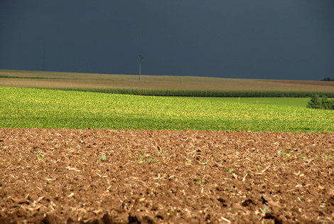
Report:
[[[334,82],[0,70],[0,86],[143,90],[334,92]]]

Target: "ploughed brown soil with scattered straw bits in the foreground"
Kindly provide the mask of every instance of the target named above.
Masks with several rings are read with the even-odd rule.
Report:
[[[333,158],[334,134],[0,129],[0,223],[334,223]]]

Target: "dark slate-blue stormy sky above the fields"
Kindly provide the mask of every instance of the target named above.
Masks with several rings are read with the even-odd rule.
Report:
[[[137,74],[139,54],[144,75],[334,78],[334,1],[0,0],[0,69]]]

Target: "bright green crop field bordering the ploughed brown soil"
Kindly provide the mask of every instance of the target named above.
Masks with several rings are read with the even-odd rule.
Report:
[[[198,98],[0,87],[0,127],[334,132],[334,112]]]

